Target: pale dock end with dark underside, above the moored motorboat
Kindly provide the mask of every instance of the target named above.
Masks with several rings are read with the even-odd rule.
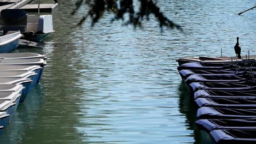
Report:
[[[57,3],[43,3],[40,4],[40,12],[53,12],[57,8]],[[20,9],[24,9],[25,11],[29,12],[37,12],[38,11],[38,4],[27,4],[21,7]]]

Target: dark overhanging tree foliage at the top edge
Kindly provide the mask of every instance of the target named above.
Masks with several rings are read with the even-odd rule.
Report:
[[[160,11],[160,8],[153,0],[137,0],[139,2],[139,10],[135,11],[133,0],[78,0],[75,4],[75,9],[72,13],[74,15],[78,9],[82,8],[82,5],[87,5],[88,13],[85,14],[79,21],[78,25],[82,25],[83,22],[90,17],[92,19],[92,26],[98,20],[101,19],[105,11],[114,14],[114,18],[111,21],[123,20],[125,25],[133,25],[136,27],[142,27],[142,21],[144,19],[149,20],[150,15],[154,15],[156,20],[159,21],[160,28],[177,28],[182,30],[181,26],[169,20]],[[129,17],[125,20],[124,16]]]

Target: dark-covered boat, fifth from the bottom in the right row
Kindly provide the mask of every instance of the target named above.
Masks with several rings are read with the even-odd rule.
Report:
[[[256,98],[256,90],[251,91],[250,88],[237,91],[202,89],[194,93],[194,99],[196,98]]]

